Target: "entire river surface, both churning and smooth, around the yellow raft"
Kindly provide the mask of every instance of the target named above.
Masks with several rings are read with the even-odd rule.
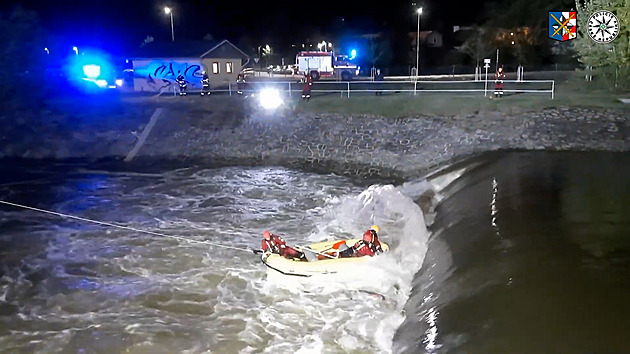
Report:
[[[488,155],[446,187],[4,161],[2,200],[206,244],[0,206],[0,351],[628,351],[629,160]],[[373,223],[392,251],[343,277],[272,277],[248,250]]]

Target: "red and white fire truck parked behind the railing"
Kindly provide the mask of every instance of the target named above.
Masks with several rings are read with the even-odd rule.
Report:
[[[352,63],[348,56],[335,55],[333,52],[299,52],[295,57],[295,63],[298,74],[310,73],[313,80],[337,77],[349,81],[359,74],[359,67]]]

